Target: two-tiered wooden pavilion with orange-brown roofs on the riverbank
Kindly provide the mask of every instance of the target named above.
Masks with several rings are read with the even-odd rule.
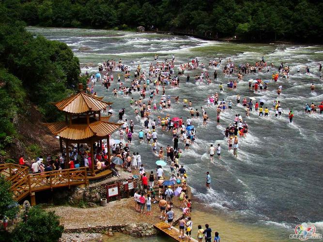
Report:
[[[119,129],[123,123],[109,122],[110,116],[102,117],[101,110],[107,108],[112,103],[102,101],[103,97],[94,97],[83,91],[83,85],[78,84],[78,92],[60,102],[53,103],[65,114],[65,121],[54,123],[44,123],[50,132],[60,137],[60,148],[63,154],[63,144],[65,142],[66,161],[69,154],[69,145],[77,144],[79,151],[80,144],[88,144],[91,147],[92,176],[95,176],[95,158],[93,144],[107,138],[108,160],[110,161],[109,136]]]

